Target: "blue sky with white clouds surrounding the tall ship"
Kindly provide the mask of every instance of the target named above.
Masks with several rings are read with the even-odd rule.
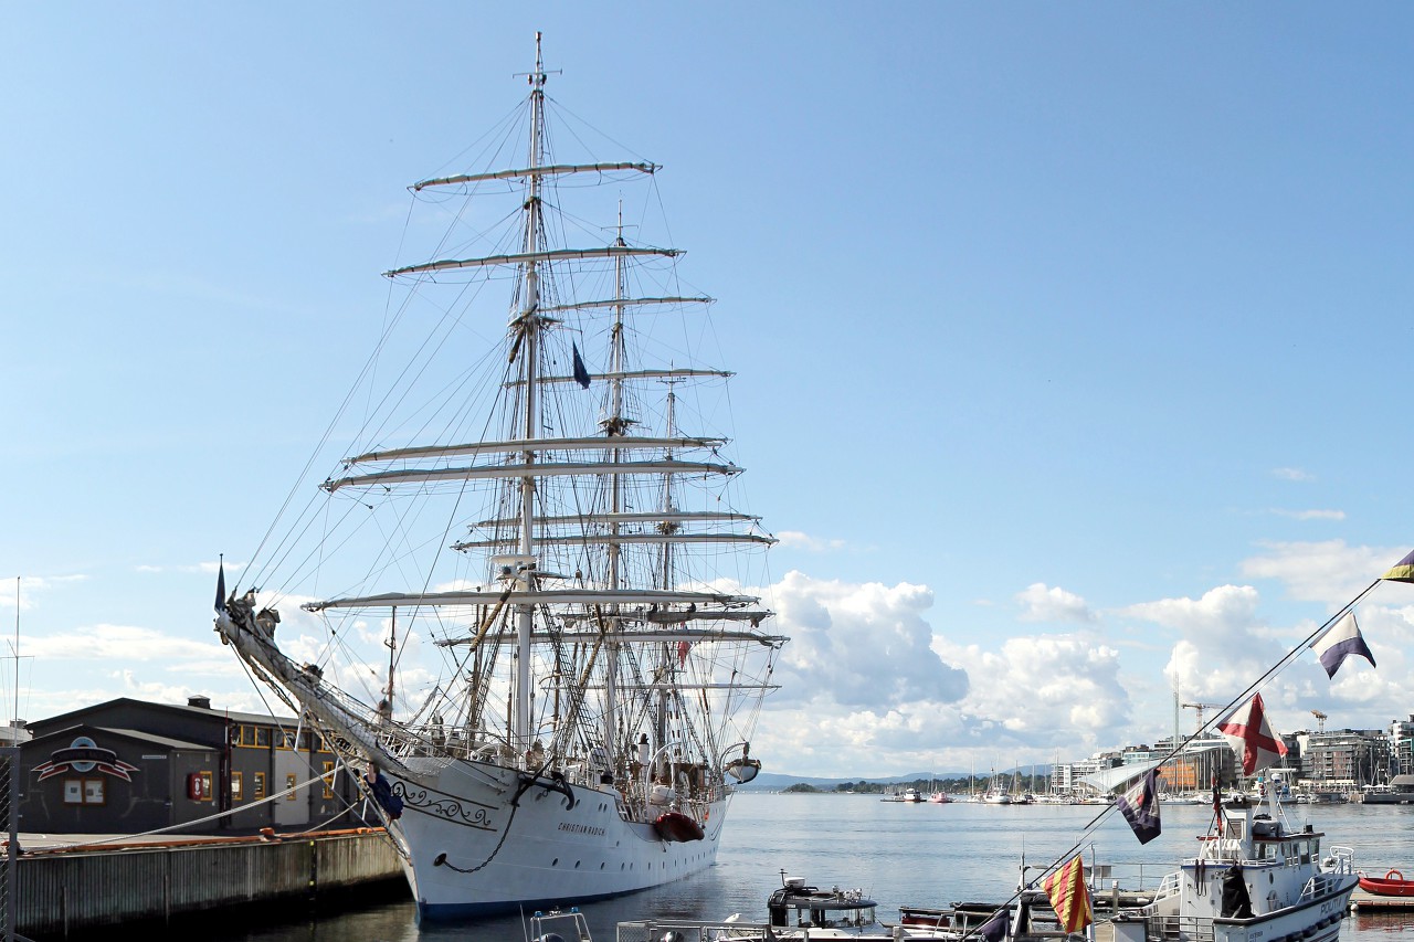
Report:
[[[515,106],[536,30],[550,93],[666,167],[721,298],[795,638],[773,771],[1152,741],[1175,672],[1226,702],[1414,545],[1407,6],[508,7],[10,11],[21,716],[260,707],[209,629],[218,554],[300,485],[404,187]],[[1308,656],[1278,728],[1414,713],[1414,590],[1360,617],[1379,670]]]

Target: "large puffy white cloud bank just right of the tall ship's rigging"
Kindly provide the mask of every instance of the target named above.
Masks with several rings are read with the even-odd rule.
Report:
[[[1028,611],[1096,621],[1072,593],[1032,590],[1021,594],[1034,597]],[[983,648],[926,621],[933,593],[925,586],[790,573],[772,594],[776,628],[790,644],[752,751],[789,757],[790,771],[837,774],[840,755],[868,757],[844,762],[861,774],[956,769],[977,750],[991,761],[997,750],[1072,755],[1127,741],[1118,651],[1096,632],[1011,636]]]

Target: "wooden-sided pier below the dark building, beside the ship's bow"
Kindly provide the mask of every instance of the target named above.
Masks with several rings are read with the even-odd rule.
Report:
[[[390,892],[402,884],[406,892],[397,851],[380,827],[93,847],[35,847],[21,837],[20,846],[16,929],[33,939],[170,925],[233,907],[257,917],[262,907],[314,905],[369,884]]]

